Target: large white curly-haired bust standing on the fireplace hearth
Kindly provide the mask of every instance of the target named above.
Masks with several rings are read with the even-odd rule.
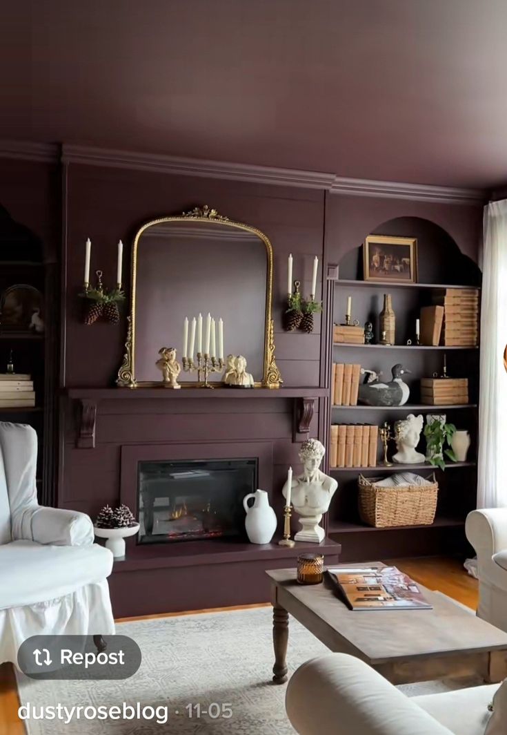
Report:
[[[331,498],[338,488],[338,482],[319,469],[325,453],[324,445],[317,439],[307,439],[299,450],[303,472],[293,478],[291,484],[291,502],[302,527],[294,537],[296,541],[320,543],[325,536],[324,528],[318,524],[322,514],[329,510]],[[284,498],[287,498],[287,490],[285,482],[282,489]]]

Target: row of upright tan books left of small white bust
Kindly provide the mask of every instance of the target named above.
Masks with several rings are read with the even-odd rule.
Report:
[[[333,424],[329,466],[376,467],[378,440],[378,426]]]

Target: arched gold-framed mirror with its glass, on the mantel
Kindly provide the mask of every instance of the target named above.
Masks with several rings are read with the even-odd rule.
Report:
[[[210,384],[221,385],[222,365],[233,354],[246,359],[254,387],[280,387],[272,293],[273,249],[255,227],[233,222],[208,206],[147,222],[132,245],[131,307],[117,385],[161,387],[156,362],[166,345],[176,348],[178,362],[183,362],[181,387],[198,385],[197,373],[185,368],[189,345],[197,348],[200,339],[194,319],[198,325],[202,315],[206,325],[209,314],[216,323],[211,334],[215,348],[208,348],[216,355]]]

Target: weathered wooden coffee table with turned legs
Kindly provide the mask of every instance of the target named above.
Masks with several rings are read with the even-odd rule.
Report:
[[[385,564],[343,564],[353,566]],[[275,684],[287,681],[289,613],[329,650],[357,656],[392,684],[469,675],[495,683],[507,677],[507,633],[418,583],[432,610],[352,612],[325,575],[322,584],[302,585],[294,569],[266,574],[271,578]]]

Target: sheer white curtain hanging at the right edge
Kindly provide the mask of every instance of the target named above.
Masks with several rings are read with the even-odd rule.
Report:
[[[507,199],[484,207],[478,508],[507,506]]]

